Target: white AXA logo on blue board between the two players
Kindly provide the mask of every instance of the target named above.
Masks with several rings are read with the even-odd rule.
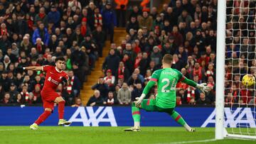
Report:
[[[68,121],[82,123],[83,126],[99,126],[100,123],[110,123],[110,126],[117,126],[112,107],[99,106],[97,110],[92,106],[78,107]]]

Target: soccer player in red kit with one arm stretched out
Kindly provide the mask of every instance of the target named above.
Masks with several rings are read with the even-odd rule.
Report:
[[[32,130],[38,129],[38,125],[45,121],[46,118],[48,118],[48,116],[50,116],[50,114],[53,112],[54,103],[58,104],[58,125],[70,125],[70,121],[65,121],[65,119],[63,119],[65,100],[62,96],[55,92],[55,89],[58,87],[58,84],[67,85],[68,83],[68,74],[63,72],[64,67],[64,57],[57,57],[55,59],[55,67],[50,65],[23,67],[23,70],[42,70],[43,72],[46,72],[46,80],[43,84],[43,89],[41,91],[44,112],[30,126]]]

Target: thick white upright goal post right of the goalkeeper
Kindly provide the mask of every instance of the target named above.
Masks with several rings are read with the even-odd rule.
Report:
[[[226,1],[218,1],[217,11],[217,56],[216,56],[216,99],[215,139],[224,138],[224,77],[225,77],[225,21]]]

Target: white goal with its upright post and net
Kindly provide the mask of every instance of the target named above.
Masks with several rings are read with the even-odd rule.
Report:
[[[241,83],[245,74],[256,74],[256,1],[218,2],[215,138],[256,139],[255,85]]]

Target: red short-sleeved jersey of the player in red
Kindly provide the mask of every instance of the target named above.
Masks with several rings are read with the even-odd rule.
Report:
[[[55,89],[58,87],[58,84],[60,84],[62,77],[68,79],[68,74],[63,71],[59,72],[57,67],[44,65],[42,70],[43,72],[46,72],[46,80],[43,84],[42,91],[55,91]]]

